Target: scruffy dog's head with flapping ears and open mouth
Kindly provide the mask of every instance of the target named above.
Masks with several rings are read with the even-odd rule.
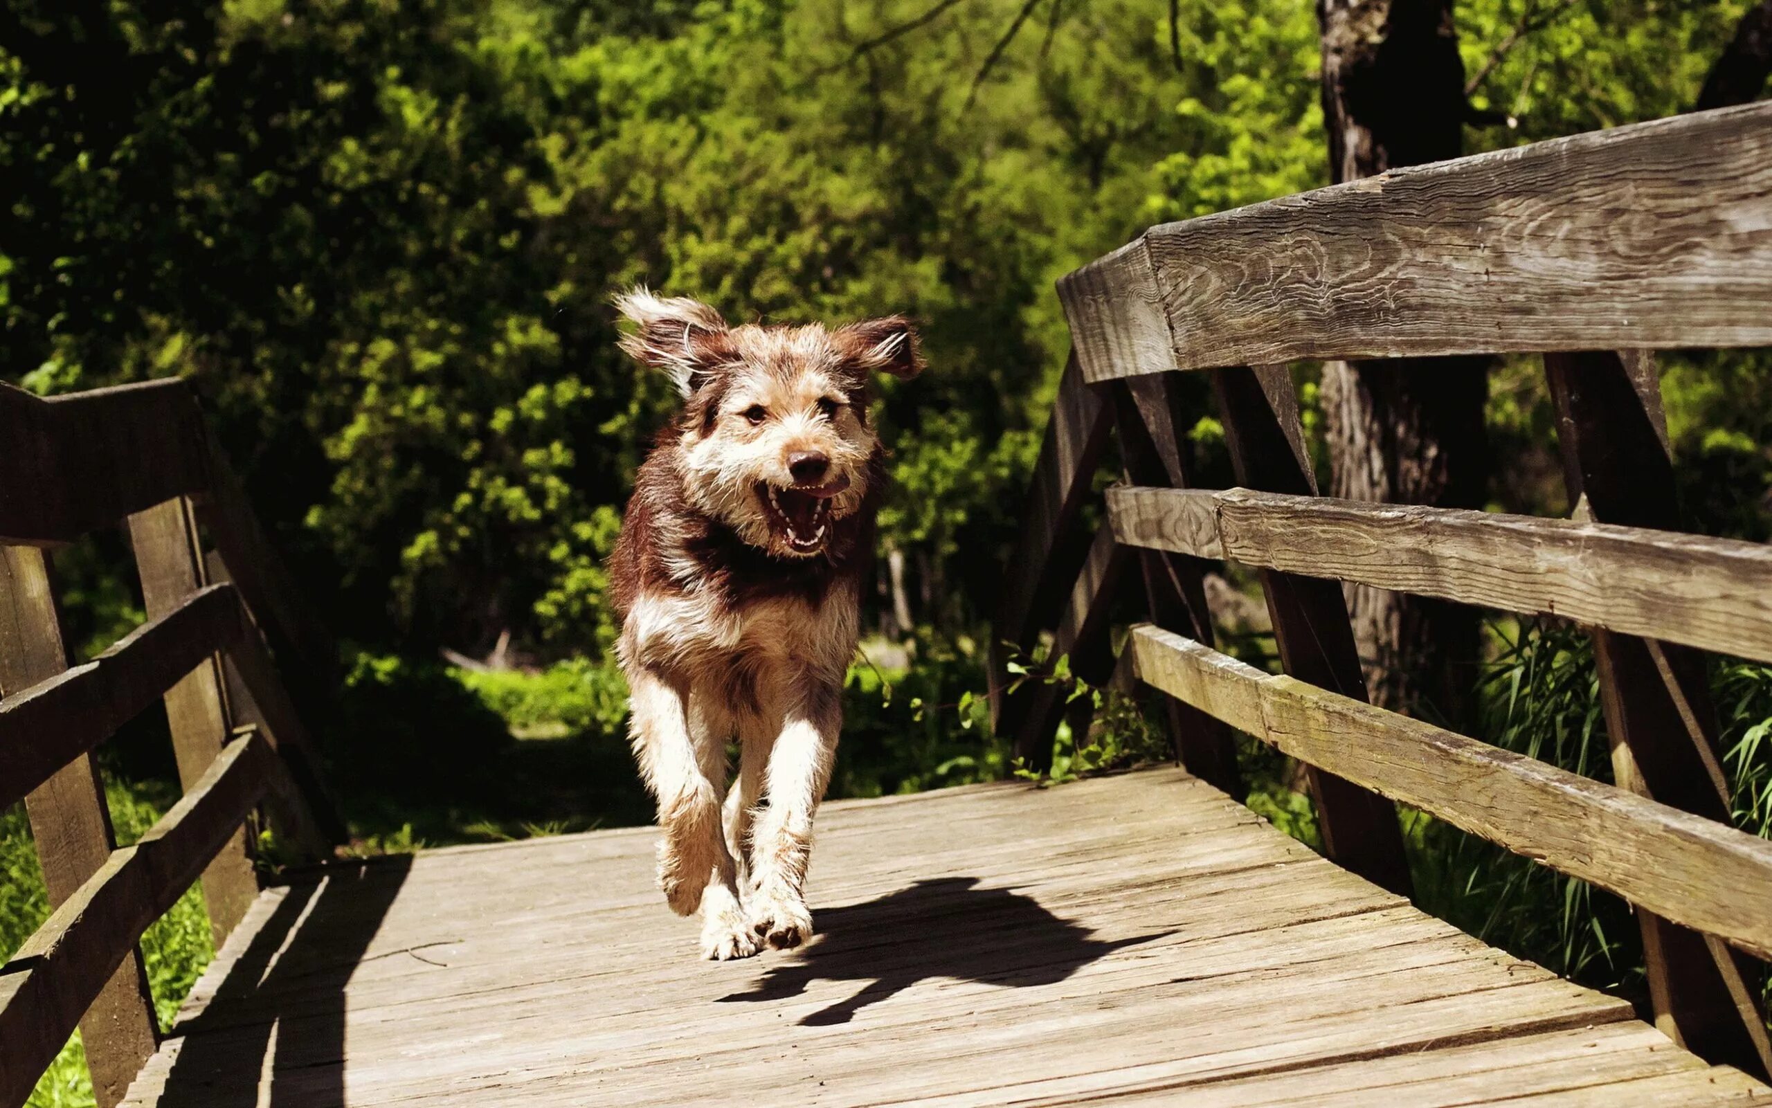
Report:
[[[679,468],[689,503],[773,555],[822,551],[829,527],[868,495],[879,450],[872,374],[923,369],[909,321],[727,326],[705,303],[643,287],[615,305],[638,324],[622,349],[684,395]]]

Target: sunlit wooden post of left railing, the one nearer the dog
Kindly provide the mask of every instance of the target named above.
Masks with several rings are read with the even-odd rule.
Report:
[[[175,496],[129,516],[129,539],[135,544],[135,564],[149,619],[165,615],[207,583],[190,498]],[[186,791],[209,769],[209,762],[227,745],[234,729],[222,690],[216,656],[167,690],[167,723],[172,727],[179,782]],[[257,895],[252,839],[248,828],[241,826],[204,869],[204,904],[209,909],[216,947],[234,931]]]

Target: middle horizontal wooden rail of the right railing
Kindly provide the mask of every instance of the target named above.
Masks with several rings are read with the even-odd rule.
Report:
[[[1122,486],[1108,512],[1131,546],[1772,661],[1772,548],[1758,542],[1249,489]]]

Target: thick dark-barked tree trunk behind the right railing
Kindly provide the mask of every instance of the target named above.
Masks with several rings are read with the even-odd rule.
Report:
[[[1318,0],[1322,101],[1336,183],[1457,158],[1464,64],[1451,0]],[[1324,365],[1331,493],[1347,500],[1481,507],[1488,457],[1487,358]],[[1478,613],[1348,587],[1375,704],[1462,723],[1476,675]]]

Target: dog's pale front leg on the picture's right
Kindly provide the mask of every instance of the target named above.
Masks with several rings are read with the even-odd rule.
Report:
[[[843,722],[838,684],[820,681],[796,693],[769,752],[769,807],[751,831],[751,925],[778,950],[812,936],[804,895],[812,817],[831,782]]]

